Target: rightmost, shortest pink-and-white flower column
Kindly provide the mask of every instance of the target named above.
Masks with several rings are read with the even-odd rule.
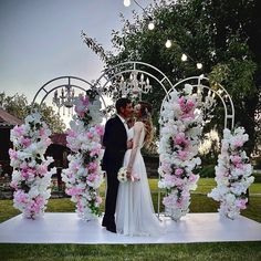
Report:
[[[252,166],[242,149],[248,139],[249,136],[244,134],[243,127],[238,127],[233,132],[223,129],[221,154],[216,166],[217,188],[208,194],[208,197],[220,201],[218,209],[220,215],[230,219],[237,218],[240,210],[246,209],[248,202],[246,192],[254,180],[251,176]]]

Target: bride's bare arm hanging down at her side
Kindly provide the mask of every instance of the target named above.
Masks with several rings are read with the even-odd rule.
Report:
[[[127,177],[128,178],[132,175],[133,164],[134,164],[137,150],[138,150],[139,139],[140,139],[140,135],[143,132],[143,127],[144,127],[144,124],[142,122],[137,122],[134,125],[133,148],[132,148],[130,157],[129,157],[128,165],[127,165]]]

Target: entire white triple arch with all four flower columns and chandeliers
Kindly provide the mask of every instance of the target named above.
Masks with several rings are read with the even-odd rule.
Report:
[[[97,190],[103,181],[100,161],[101,137],[104,132],[100,125],[103,117],[100,113],[102,104],[106,108],[105,116],[109,112],[104,96],[108,95],[112,100],[122,95],[142,98],[143,93],[148,93],[154,87],[149,79],[156,81],[166,94],[159,118],[161,127],[158,169],[159,188],[167,190],[163,200],[166,215],[178,220],[189,211],[189,191],[196,188],[198,180],[198,176],[192,171],[200,165],[200,159],[196,156],[203,124],[202,113],[211,112],[217,96],[225,107],[225,139],[216,168],[218,187],[209,196],[221,202],[222,213],[233,218],[246,207],[247,200],[242,195],[253,179],[250,177],[251,166],[247,164],[248,157],[242,150],[248,135],[242,128],[233,133],[227,129],[228,125],[231,129],[234,125],[234,108],[230,95],[220,84],[210,86],[209,80],[203,76],[189,77],[173,85],[155,66],[133,61],[105,70],[92,84],[74,76],[53,79],[45,83],[33,98],[32,107],[39,100],[41,106],[48,101],[49,94],[54,92],[52,102],[58,106],[75,106],[76,115],[73,116],[74,121],[67,134],[67,146],[73,154],[69,156],[69,168],[63,170],[62,177],[66,184],[66,192],[76,203],[77,213],[84,220],[100,215],[102,200]],[[86,95],[75,97],[72,95],[72,87],[84,91]],[[59,88],[64,90],[60,100]],[[42,215],[50,198],[49,187],[55,169],[49,168],[53,159],[45,159],[43,156],[50,145],[50,134],[39,114],[30,115],[24,125],[14,127],[11,133],[15,146],[15,149],[10,150],[11,166],[14,169],[11,182],[15,190],[14,207],[28,218]],[[231,176],[236,178],[231,179]],[[228,184],[226,188],[225,179]]]

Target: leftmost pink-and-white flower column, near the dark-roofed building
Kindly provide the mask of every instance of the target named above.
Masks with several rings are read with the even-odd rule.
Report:
[[[43,215],[51,196],[51,177],[56,169],[49,170],[53,158],[43,156],[51,144],[50,135],[51,130],[39,113],[27,116],[25,124],[11,130],[10,139],[15,147],[9,149],[13,167],[10,184],[14,189],[13,206],[27,218]]]

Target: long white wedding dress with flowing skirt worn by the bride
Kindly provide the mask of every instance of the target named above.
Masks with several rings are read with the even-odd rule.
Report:
[[[132,174],[138,177],[139,180],[119,182],[116,203],[116,230],[117,233],[125,236],[157,236],[163,233],[164,229],[154,211],[147,173],[140,154],[145,138],[143,123],[135,123],[134,127],[128,129],[128,139],[130,138],[134,138],[133,148],[136,148]],[[132,149],[125,153],[124,166],[126,167],[130,154]]]

